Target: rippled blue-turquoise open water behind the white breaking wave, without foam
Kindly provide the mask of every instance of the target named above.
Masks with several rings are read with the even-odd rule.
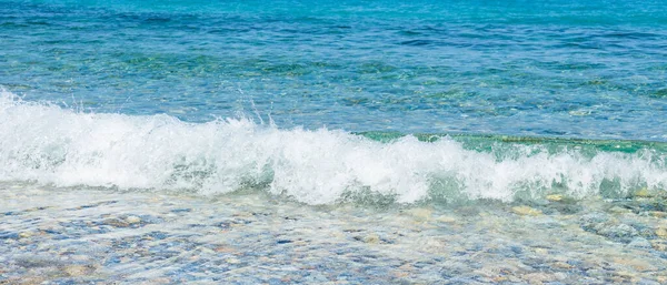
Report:
[[[87,112],[667,141],[666,1],[0,1],[0,85]]]

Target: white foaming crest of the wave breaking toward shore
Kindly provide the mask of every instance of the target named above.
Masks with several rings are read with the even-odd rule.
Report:
[[[656,156],[664,154],[587,156],[526,147],[498,159],[449,139],[421,142],[408,135],[382,143],[246,119],[187,123],[169,115],[81,113],[0,95],[2,181],[201,194],[250,186],[309,204],[359,193],[399,203],[448,195],[511,201],[517,193],[595,195],[605,183],[620,192],[667,185],[666,159]]]

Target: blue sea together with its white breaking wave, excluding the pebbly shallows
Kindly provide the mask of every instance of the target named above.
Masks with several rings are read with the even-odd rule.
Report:
[[[0,40],[1,181],[312,204],[667,187],[667,1],[0,1]]]

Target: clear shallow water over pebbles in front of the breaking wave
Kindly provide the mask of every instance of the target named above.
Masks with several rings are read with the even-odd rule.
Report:
[[[4,184],[0,284],[667,282],[667,199],[312,206]]]

